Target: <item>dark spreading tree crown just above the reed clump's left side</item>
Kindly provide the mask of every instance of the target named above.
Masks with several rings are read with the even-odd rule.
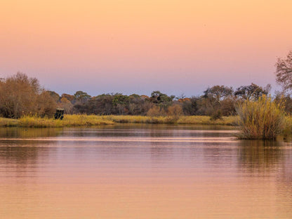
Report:
[[[271,85],[267,84],[264,88],[256,84],[248,86],[240,86],[234,92],[235,97],[243,100],[258,100],[262,95],[267,95],[270,92]]]

